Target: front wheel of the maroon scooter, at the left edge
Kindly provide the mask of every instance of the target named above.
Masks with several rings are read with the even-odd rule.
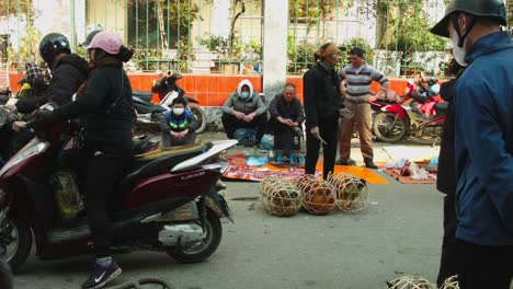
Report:
[[[12,271],[19,271],[31,254],[31,229],[7,218],[0,231],[0,245],[5,250],[5,261],[11,265]]]

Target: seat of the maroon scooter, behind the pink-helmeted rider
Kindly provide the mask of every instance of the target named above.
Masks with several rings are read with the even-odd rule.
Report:
[[[134,157],[133,165],[121,181],[122,187],[152,175],[169,172],[174,165],[207,151],[212,143],[197,143],[159,149]]]

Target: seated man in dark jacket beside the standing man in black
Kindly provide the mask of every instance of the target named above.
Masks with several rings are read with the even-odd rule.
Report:
[[[292,160],[294,136],[303,136],[305,122],[301,103],[296,97],[296,85],[285,84],[283,93],[274,96],[269,111],[274,122],[274,144],[283,150],[282,161],[288,162]]]

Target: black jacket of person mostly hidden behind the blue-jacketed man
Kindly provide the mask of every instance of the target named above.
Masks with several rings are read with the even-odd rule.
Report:
[[[448,103],[445,115],[444,131],[440,144],[438,170],[436,177],[436,189],[447,195],[455,195],[456,192],[456,162],[454,152],[454,85],[456,79],[442,83],[440,95]]]

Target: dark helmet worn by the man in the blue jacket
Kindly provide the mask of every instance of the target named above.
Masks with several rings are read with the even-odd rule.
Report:
[[[502,0],[451,0],[445,9],[444,18],[431,28],[431,33],[448,38],[447,22],[449,14],[454,12],[494,18],[501,22],[501,25],[505,26],[508,24],[505,7]]]

